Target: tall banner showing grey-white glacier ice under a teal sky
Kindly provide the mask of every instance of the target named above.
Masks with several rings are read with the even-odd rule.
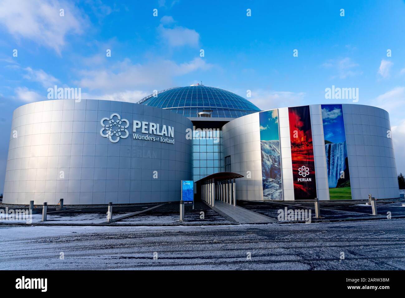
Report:
[[[259,113],[264,200],[282,200],[280,137],[277,109]]]

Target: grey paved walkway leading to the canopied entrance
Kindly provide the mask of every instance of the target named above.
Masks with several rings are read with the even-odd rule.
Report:
[[[221,215],[233,219],[237,223],[277,223],[276,219],[272,219],[263,214],[247,210],[243,207],[225,204],[222,201],[215,201],[215,207],[211,207]]]

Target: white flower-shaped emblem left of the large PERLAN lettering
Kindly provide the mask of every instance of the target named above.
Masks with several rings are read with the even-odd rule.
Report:
[[[112,143],[117,143],[120,138],[125,139],[129,135],[128,130],[126,130],[129,126],[129,121],[121,119],[121,116],[117,113],[111,114],[110,118],[102,118],[100,123],[103,126],[100,130],[100,135],[108,137]]]

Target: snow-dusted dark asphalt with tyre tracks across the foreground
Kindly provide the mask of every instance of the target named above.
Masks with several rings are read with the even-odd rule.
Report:
[[[0,270],[404,270],[404,227],[405,219],[200,227],[0,226]]]

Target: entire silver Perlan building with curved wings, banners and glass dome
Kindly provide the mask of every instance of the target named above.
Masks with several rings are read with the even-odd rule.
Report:
[[[377,107],[260,111],[199,84],[138,103],[29,103],[13,114],[3,204],[175,202],[181,180],[200,197],[204,181],[235,176],[238,200],[396,199],[390,129]]]

